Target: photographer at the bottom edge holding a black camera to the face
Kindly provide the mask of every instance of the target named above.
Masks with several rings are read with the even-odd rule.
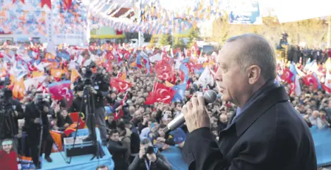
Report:
[[[171,170],[171,164],[159,151],[155,153],[155,147],[149,139],[144,139],[140,142],[139,155],[137,155],[130,166],[128,166],[128,170],[136,169]]]

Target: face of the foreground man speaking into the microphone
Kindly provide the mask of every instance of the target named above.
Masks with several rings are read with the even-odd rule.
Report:
[[[236,62],[241,47],[239,42],[224,44],[217,58],[219,68],[215,73],[215,80],[222,99],[235,104],[241,100],[237,97],[240,97],[242,92],[247,92],[248,87],[248,78],[241,73],[241,66]]]

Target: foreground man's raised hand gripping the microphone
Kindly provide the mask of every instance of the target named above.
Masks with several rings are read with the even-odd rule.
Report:
[[[185,117],[188,132],[198,128],[210,128],[210,117],[205,108],[205,99],[203,96],[192,97],[191,102],[187,102],[181,109]]]

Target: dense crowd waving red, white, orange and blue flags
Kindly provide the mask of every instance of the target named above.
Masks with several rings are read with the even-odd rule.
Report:
[[[1,95],[1,102],[7,101],[13,108],[11,133],[0,130],[0,162],[8,169],[21,163],[8,164],[8,159],[22,156],[32,157],[33,164],[40,168],[40,141],[45,144],[44,159],[56,162],[52,160],[54,139],[49,131],[61,133],[64,138],[63,132],[74,123],[71,113],[83,113],[86,125],[93,126],[88,123],[91,119],[88,104],[84,104],[90,71],[88,87],[101,144],[107,145],[115,169],[171,169],[171,162],[162,152],[183,147],[188,130],[184,124],[176,133],[165,134],[163,128],[181,113],[183,104],[195,93],[205,90],[218,93],[212,80],[218,69],[217,51],[207,55],[195,47],[167,51],[106,43],[88,49],[61,46],[52,55],[40,44],[4,44],[0,57],[1,77],[11,80],[4,81]],[[322,64],[314,59],[307,63],[279,61],[278,81],[287,88],[292,104],[308,125],[327,128],[331,119],[328,61]],[[34,83],[29,83],[30,80]],[[51,90],[59,84],[57,91]],[[236,106],[223,102],[221,94],[215,103],[207,105],[215,139],[227,127],[234,111]],[[88,136],[85,140],[91,139]],[[20,168],[23,169],[23,164]]]

